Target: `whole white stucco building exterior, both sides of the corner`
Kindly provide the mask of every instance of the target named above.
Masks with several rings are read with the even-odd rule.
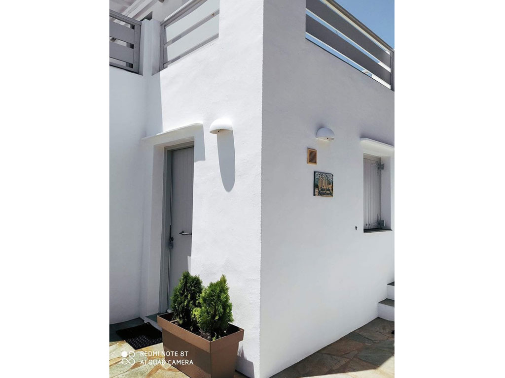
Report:
[[[306,0],[220,0],[219,36],[160,71],[160,25],[182,3],[130,14],[152,17],[139,74],[110,67],[110,322],[160,310],[165,154],[194,146],[188,268],[226,275],[237,370],[268,378],[376,318],[394,280],[394,92],[306,39]],[[233,131],[209,133],[218,118]],[[384,164],[386,232],[364,232],[364,154]],[[314,171],[333,174],[332,198],[313,195]]]

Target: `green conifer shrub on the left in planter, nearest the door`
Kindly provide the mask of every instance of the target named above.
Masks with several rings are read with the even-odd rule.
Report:
[[[172,295],[174,318],[182,328],[195,331],[198,328],[193,310],[198,305],[198,299],[203,290],[199,276],[191,276],[189,272],[182,273],[179,283]]]

